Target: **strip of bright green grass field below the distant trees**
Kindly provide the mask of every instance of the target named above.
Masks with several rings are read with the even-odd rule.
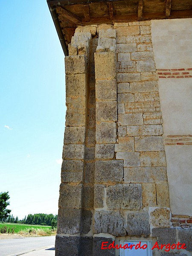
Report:
[[[15,227],[15,233],[19,233],[20,231],[26,231],[26,230],[29,230],[29,229],[35,229],[35,230],[38,230],[38,229],[48,230],[48,229],[50,229],[51,230],[50,226],[20,224],[20,223],[8,223],[8,222],[0,223],[0,228],[3,227],[3,226],[7,226],[7,227],[10,227],[10,228]]]

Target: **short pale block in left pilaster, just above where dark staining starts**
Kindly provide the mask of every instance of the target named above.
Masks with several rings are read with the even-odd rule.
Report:
[[[84,159],[84,145],[70,144],[63,146],[63,159]]]

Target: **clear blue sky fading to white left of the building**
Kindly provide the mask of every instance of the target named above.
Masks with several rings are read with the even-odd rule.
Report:
[[[0,192],[15,217],[57,214],[64,53],[46,0],[6,2],[0,24]]]

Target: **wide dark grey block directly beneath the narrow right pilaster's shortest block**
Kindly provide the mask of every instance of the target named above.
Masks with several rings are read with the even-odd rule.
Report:
[[[123,161],[109,160],[96,161],[95,182],[111,183],[121,182],[123,178]]]

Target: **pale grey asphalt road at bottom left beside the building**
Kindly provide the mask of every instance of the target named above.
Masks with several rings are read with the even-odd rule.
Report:
[[[47,246],[55,246],[55,236],[2,239],[0,240],[0,256],[16,256]]]

